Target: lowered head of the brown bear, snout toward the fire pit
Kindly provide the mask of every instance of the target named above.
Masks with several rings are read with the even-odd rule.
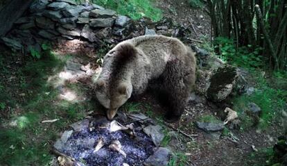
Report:
[[[96,98],[107,109],[108,119],[116,115],[117,110],[131,95],[132,83],[128,81],[116,81],[113,85],[107,85],[100,79],[96,83]]]

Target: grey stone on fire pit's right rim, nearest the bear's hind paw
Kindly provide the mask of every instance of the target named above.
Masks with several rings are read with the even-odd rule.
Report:
[[[162,127],[159,125],[150,125],[143,128],[143,132],[152,138],[153,143],[158,147],[159,144],[162,142],[162,139],[164,139],[164,133],[162,133]]]

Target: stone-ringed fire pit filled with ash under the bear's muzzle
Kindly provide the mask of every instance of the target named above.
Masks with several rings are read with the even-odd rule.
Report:
[[[112,122],[95,117],[70,126],[73,130],[64,131],[54,144],[61,156],[60,165],[62,158],[69,159],[73,165],[150,165],[153,160],[166,165],[168,162],[168,149],[164,154],[162,149],[157,153],[164,138],[161,128],[143,114],[123,114]]]

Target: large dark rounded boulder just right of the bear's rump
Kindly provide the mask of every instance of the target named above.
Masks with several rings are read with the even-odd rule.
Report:
[[[211,101],[223,101],[232,92],[238,74],[235,67],[219,68],[210,78],[207,98]]]

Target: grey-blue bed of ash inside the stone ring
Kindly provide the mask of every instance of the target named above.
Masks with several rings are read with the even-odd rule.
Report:
[[[82,131],[74,132],[61,149],[62,153],[75,158],[77,162],[85,165],[143,165],[143,162],[154,153],[155,144],[146,133],[143,133],[138,122],[134,123],[134,133],[132,138],[125,131],[110,132],[109,128],[99,128],[101,124],[93,122],[93,130],[84,128]],[[94,152],[99,139],[103,139],[104,146]],[[109,149],[113,140],[119,140],[123,151],[127,154],[125,158],[118,151]]]

